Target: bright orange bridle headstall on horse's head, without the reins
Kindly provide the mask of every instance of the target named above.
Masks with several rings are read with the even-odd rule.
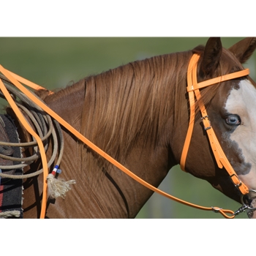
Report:
[[[190,119],[189,119],[189,128],[187,130],[187,137],[185,139],[184,148],[181,154],[181,163],[180,163],[181,170],[185,170],[185,162],[186,162],[187,153],[189,150],[190,140],[192,138],[192,132],[193,132],[193,127],[195,123],[195,97],[196,97],[199,108],[200,108],[200,112],[202,115],[204,129],[207,132],[208,139],[211,144],[211,149],[217,161],[217,165],[219,168],[222,168],[223,166],[225,167],[225,170],[227,170],[227,173],[230,175],[230,178],[233,181],[233,184],[235,184],[235,186],[238,187],[241,193],[245,195],[249,192],[249,189],[248,187],[246,187],[246,185],[242,181],[240,181],[240,179],[236,175],[235,170],[233,170],[233,167],[230,165],[230,162],[225,156],[225,153],[219,144],[219,140],[215,135],[214,129],[213,127],[211,127],[211,121],[209,120],[209,117],[207,115],[205,105],[203,104],[202,100],[199,100],[201,97],[199,89],[206,86],[211,86],[216,83],[223,82],[225,80],[230,80],[233,78],[241,78],[245,75],[249,75],[249,69],[244,69],[228,75],[222,75],[217,78],[213,78],[210,80],[197,83],[197,62],[199,58],[200,58],[199,55],[194,54],[192,56],[192,59],[189,62],[189,67],[187,70],[187,91],[189,93]]]

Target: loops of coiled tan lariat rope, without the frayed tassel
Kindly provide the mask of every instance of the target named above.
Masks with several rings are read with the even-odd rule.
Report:
[[[8,89],[8,91],[11,92],[12,98],[14,98],[15,104],[20,108],[20,110],[23,110],[24,113],[26,113],[26,116],[29,117],[29,120],[31,121],[32,124],[34,124],[34,127],[37,129],[37,132],[39,134],[40,140],[44,143],[45,147],[44,150],[48,150],[48,139],[50,138],[50,135],[53,137],[53,154],[52,157],[50,158],[48,162],[48,167],[53,164],[54,160],[56,159],[56,156],[58,154],[58,148],[59,148],[59,157],[57,159],[56,165],[59,165],[61,162],[61,158],[63,156],[63,151],[64,151],[64,139],[61,131],[61,127],[59,123],[52,119],[45,111],[42,110],[42,108],[39,108],[39,106],[35,105],[34,102],[32,102],[28,97],[26,97],[25,94],[20,93],[15,87],[13,87],[12,83],[10,83],[7,78],[4,78],[2,75],[0,75],[0,78],[4,80],[4,86]],[[33,93],[34,94],[34,93]],[[15,97],[13,97],[15,96]],[[36,94],[34,94],[35,97],[37,97]],[[0,97],[5,99],[4,94],[0,91]],[[17,98],[20,99],[20,102],[18,102]],[[39,97],[37,97],[39,99]],[[39,99],[42,101],[42,99]],[[25,103],[26,107],[22,105],[22,103]],[[28,121],[28,120],[27,120]],[[29,122],[29,121],[28,121]],[[54,123],[54,125],[53,125]],[[59,135],[59,142],[56,134],[56,129],[58,131]],[[33,138],[34,139],[34,138]],[[39,149],[37,146],[37,141],[31,141],[28,143],[8,143],[8,142],[3,142],[0,141],[0,146],[18,146],[18,147],[23,147],[23,148],[28,148],[28,147],[33,147],[34,149],[34,154],[31,157],[10,157],[6,156],[4,154],[0,154],[0,157],[3,159],[9,159],[11,161],[15,162],[23,162],[20,165],[0,165],[0,169],[18,169],[20,167],[26,167],[28,165],[31,165],[32,162],[36,161],[40,157]],[[30,178],[33,176],[37,176],[40,173],[42,173],[42,169],[38,170],[35,173],[30,173],[30,174],[24,174],[21,176],[13,176],[13,178]],[[1,177],[4,178],[11,178],[9,174],[4,174],[0,173]]]

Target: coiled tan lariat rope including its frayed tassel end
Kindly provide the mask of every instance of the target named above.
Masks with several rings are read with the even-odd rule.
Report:
[[[57,159],[56,165],[53,171],[49,173],[47,176],[48,196],[54,197],[54,198],[59,196],[64,197],[67,190],[69,190],[69,184],[74,184],[75,181],[61,181],[55,178],[56,173],[60,173],[59,165],[61,163],[61,159],[63,157],[63,152],[64,152],[64,138],[62,135],[59,122],[56,121],[54,118],[51,118],[51,116],[48,115],[48,113],[45,113],[45,111],[42,110],[42,108],[40,108],[33,101],[31,101],[29,97],[27,97],[22,92],[18,91],[18,89],[16,89],[15,86],[13,85],[13,83],[10,82],[10,80],[6,78],[4,75],[0,75],[0,80],[1,80],[1,87],[4,85],[7,89],[8,94],[10,92],[10,96],[12,97],[12,100],[17,106],[20,113],[22,112],[25,113],[26,116],[29,118],[28,120],[23,115],[23,118],[26,119],[26,123],[29,125],[30,123],[33,124],[34,129],[37,131],[37,134],[39,136],[39,138],[35,138],[32,135],[33,141],[28,143],[9,143],[9,142],[0,141],[0,146],[33,148],[33,152],[34,152],[30,157],[20,157],[20,158],[10,157],[5,154],[0,154],[0,157],[2,159],[8,159],[11,161],[20,162],[20,164],[18,165],[0,165],[0,169],[16,170],[16,169],[31,165],[32,162],[36,161],[39,158],[42,158],[42,154],[45,155],[45,152],[48,150],[50,137],[53,139],[53,151],[49,161],[47,162],[47,166],[43,166],[42,169],[37,170],[34,173],[23,174],[23,175],[11,175],[11,174],[0,172],[0,177],[24,179],[24,178],[31,178],[34,176],[38,176],[39,174],[43,173],[44,167],[45,169],[46,167],[49,168],[51,165],[53,165],[53,162]],[[0,97],[7,100],[8,95],[6,92],[4,93],[3,91],[4,89],[1,88]],[[34,94],[32,91],[31,91],[31,94],[33,94],[34,97],[37,97],[37,95]],[[39,97],[37,97],[37,99],[43,102],[42,99],[40,99]],[[14,109],[12,108],[12,110]],[[17,112],[15,114],[17,116]],[[4,125],[3,121],[2,120],[0,121],[1,121],[0,125]],[[42,142],[43,150],[39,150],[39,141]],[[45,156],[45,159],[46,159],[46,156]],[[45,209],[43,211],[45,211]],[[41,214],[41,217],[44,217],[44,214]]]

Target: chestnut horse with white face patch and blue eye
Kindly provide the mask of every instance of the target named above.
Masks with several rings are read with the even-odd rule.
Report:
[[[200,55],[199,82],[243,70],[256,48],[246,38],[228,50],[219,38],[205,47],[135,61],[92,75],[65,89],[37,94],[61,118],[107,152],[113,159],[154,187],[158,187],[181,154],[189,127],[187,68],[194,53]],[[248,75],[200,90],[211,127],[238,178],[256,189],[255,83]],[[20,142],[31,140],[15,114]],[[66,197],[48,200],[46,218],[135,218],[152,191],[111,165],[89,146],[61,127],[64,152],[59,178],[75,180]],[[52,140],[50,140],[50,145]],[[50,158],[51,146],[47,151]],[[23,149],[29,156],[29,151]],[[40,161],[24,168],[39,170]],[[55,163],[53,163],[53,166]],[[197,109],[185,169],[241,203],[241,192],[211,151]],[[23,217],[37,218],[41,211],[42,175],[23,181]],[[254,200],[250,202],[254,206]],[[253,214],[253,213],[252,213]]]

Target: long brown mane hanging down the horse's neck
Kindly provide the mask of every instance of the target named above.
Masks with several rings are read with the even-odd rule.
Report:
[[[144,143],[154,138],[156,146],[167,120],[181,118],[173,109],[186,92],[186,70],[191,55],[191,52],[172,53],[135,61],[84,78],[49,99],[65,97],[84,86],[80,132],[120,159],[121,154],[127,156],[140,135],[144,135]]]

